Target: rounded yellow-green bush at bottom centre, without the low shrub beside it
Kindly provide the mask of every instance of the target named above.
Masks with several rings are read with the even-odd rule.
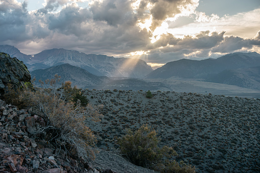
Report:
[[[161,163],[163,158],[177,155],[172,147],[158,147],[159,142],[155,130],[147,125],[141,126],[135,132],[128,129],[127,135],[118,141],[126,158],[133,164],[148,168],[153,168],[155,163]]]

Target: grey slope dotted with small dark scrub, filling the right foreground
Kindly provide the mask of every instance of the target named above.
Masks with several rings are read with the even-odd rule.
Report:
[[[88,123],[100,149],[116,153],[116,137],[148,123],[161,145],[174,147],[177,161],[195,165],[198,172],[260,171],[259,99],[161,91],[149,99],[145,91],[83,92],[91,103],[104,105],[102,120]],[[96,164],[107,165],[102,160]]]

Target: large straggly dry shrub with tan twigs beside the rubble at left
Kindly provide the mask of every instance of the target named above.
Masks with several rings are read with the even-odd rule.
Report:
[[[53,138],[50,142],[61,145],[69,152],[67,147],[74,147],[75,156],[87,155],[94,158],[93,146],[97,142],[96,137],[86,125],[86,119],[91,117],[99,121],[102,114],[96,106],[88,104],[86,107],[74,105],[73,102],[62,100],[62,93],[56,93],[56,84],[59,77],[55,75],[52,80],[46,80],[45,84],[53,88],[35,88],[35,91],[24,90],[20,100],[27,106],[37,106],[43,114],[48,117],[48,126],[41,129],[41,132],[52,131]],[[40,133],[40,132],[39,132]],[[71,152],[70,152],[71,153]]]

